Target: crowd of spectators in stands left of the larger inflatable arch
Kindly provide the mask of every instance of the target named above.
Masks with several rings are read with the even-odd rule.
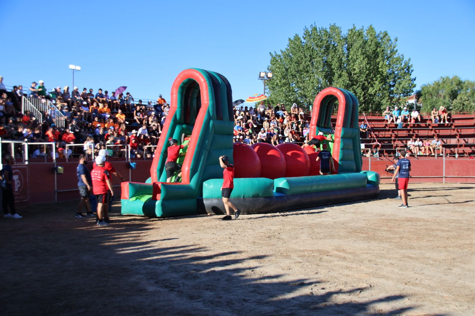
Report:
[[[38,85],[39,83],[39,85]],[[152,157],[158,143],[161,127],[170,105],[160,95],[155,104],[136,101],[130,92],[103,91],[77,87],[72,93],[65,86],[48,91],[45,82],[32,82],[28,90],[21,85],[7,90],[0,76],[0,137],[28,142],[31,158],[71,157],[85,153],[90,157],[101,149],[110,156],[124,157],[126,145],[130,145],[131,157]],[[53,106],[42,113],[40,122],[32,113],[21,112],[21,98],[47,99]],[[64,115],[64,128],[57,126],[58,115]],[[126,126],[133,129],[127,131]],[[38,143],[54,143],[52,146]],[[76,144],[78,146],[67,146]],[[3,144],[2,153],[10,153],[10,146]],[[15,145],[16,158],[23,156],[23,146]]]

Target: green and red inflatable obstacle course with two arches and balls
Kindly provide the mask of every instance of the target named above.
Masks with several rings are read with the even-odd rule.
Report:
[[[310,136],[333,135],[323,141],[332,151],[336,174],[320,176],[314,148],[297,144],[252,146],[233,144],[232,91],[216,72],[187,69],[171,88],[171,107],[151,167],[149,183],[122,183],[122,214],[166,217],[224,213],[221,200],[223,169],[218,157],[235,165],[232,202],[242,213],[265,213],[311,207],[379,194],[379,175],[361,172],[358,100],[343,89],[327,88],[314,101]],[[330,118],[338,102],[333,131]],[[183,141],[186,138],[186,141]],[[168,139],[188,142],[180,183],[166,183]]]

